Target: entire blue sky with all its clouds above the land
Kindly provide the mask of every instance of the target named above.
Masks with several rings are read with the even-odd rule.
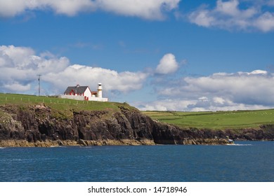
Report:
[[[274,0],[0,0],[0,92],[152,111],[274,108]]]

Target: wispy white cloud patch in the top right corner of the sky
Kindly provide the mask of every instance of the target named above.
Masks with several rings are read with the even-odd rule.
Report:
[[[239,0],[218,0],[214,8],[200,6],[188,15],[190,22],[202,27],[218,27],[221,29],[258,29],[274,30],[274,13],[263,12],[262,6],[268,3],[256,3],[248,8],[240,8]]]

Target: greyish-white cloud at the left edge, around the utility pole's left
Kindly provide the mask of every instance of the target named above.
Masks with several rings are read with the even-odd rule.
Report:
[[[69,65],[66,57],[47,57],[35,55],[32,48],[0,46],[0,86],[2,92],[25,92],[37,80],[37,74],[45,75],[60,71]]]

